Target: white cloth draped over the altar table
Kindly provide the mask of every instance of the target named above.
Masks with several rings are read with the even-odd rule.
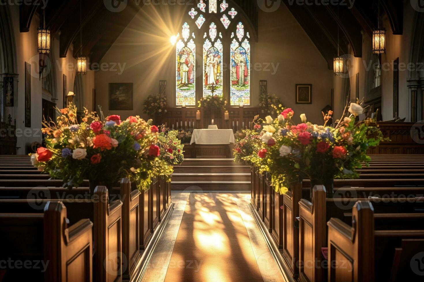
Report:
[[[234,143],[232,129],[195,129],[191,136],[190,144],[229,144]]]

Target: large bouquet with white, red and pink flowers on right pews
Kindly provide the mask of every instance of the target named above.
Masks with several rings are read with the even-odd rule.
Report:
[[[300,115],[302,123],[295,124],[290,108],[275,120],[266,117],[262,146],[253,160],[262,172],[271,172],[276,192],[285,194],[299,179],[309,178],[311,189],[324,184],[327,197],[332,197],[334,178],[359,177],[356,169],[371,160],[366,155],[368,147],[384,140],[373,120],[355,123],[354,117],[363,111],[361,104],[351,103],[350,115],[346,105],[335,128],[307,122],[305,114]]]

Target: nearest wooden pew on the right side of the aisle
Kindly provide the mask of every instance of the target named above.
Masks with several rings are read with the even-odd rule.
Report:
[[[385,215],[386,218],[390,216]],[[391,216],[393,225],[402,227],[402,218]],[[369,201],[358,201],[352,211],[351,225],[331,218],[328,225],[328,281],[418,281],[421,269],[410,261],[424,251],[424,230],[375,230],[378,216]],[[422,256],[419,257],[422,259]],[[414,272],[418,271],[417,272]]]

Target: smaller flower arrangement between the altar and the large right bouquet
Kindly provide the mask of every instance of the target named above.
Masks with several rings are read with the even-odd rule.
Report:
[[[257,123],[257,118],[258,116],[255,116],[253,119],[253,129],[242,129],[234,134],[236,138],[233,149],[234,162],[252,164],[251,156],[256,156],[256,153],[261,148],[261,126]]]

